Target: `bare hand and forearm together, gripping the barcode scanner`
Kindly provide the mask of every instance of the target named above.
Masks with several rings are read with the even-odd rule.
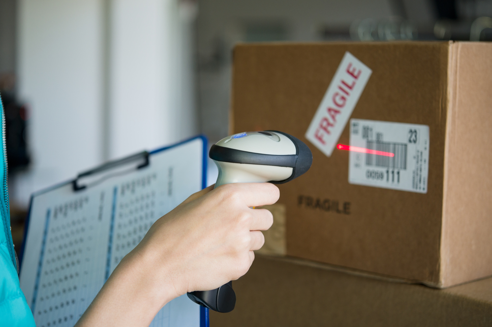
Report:
[[[116,267],[76,326],[148,326],[168,301],[244,275],[272,214],[270,183],[226,184],[189,196],[159,218]]]

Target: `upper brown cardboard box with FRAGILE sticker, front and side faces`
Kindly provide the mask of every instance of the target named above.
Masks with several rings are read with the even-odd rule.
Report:
[[[351,184],[355,153],[328,157],[304,136],[346,52],[372,71],[351,119],[428,127],[423,189]],[[305,175],[279,185],[288,256],[437,288],[492,275],[491,43],[239,45],[232,92],[233,132],[285,131],[313,153]],[[350,123],[340,132],[348,145]]]

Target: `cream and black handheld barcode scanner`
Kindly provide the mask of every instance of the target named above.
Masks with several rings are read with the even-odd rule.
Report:
[[[304,174],[312,163],[306,144],[281,131],[243,132],[221,139],[209,157],[218,167],[215,188],[229,183],[283,184]],[[188,297],[209,309],[230,312],[236,305],[232,282],[212,291],[195,291]]]

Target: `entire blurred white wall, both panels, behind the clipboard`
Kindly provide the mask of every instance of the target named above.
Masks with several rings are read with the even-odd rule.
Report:
[[[10,184],[17,202],[197,132],[194,102],[182,100],[194,97],[183,53],[194,18],[182,9],[178,0],[19,1],[17,93],[31,109],[33,163]]]

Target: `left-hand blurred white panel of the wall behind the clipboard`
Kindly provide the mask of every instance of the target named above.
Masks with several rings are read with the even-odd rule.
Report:
[[[18,98],[30,109],[32,169],[12,185],[32,191],[100,163],[101,3],[21,0]]]

